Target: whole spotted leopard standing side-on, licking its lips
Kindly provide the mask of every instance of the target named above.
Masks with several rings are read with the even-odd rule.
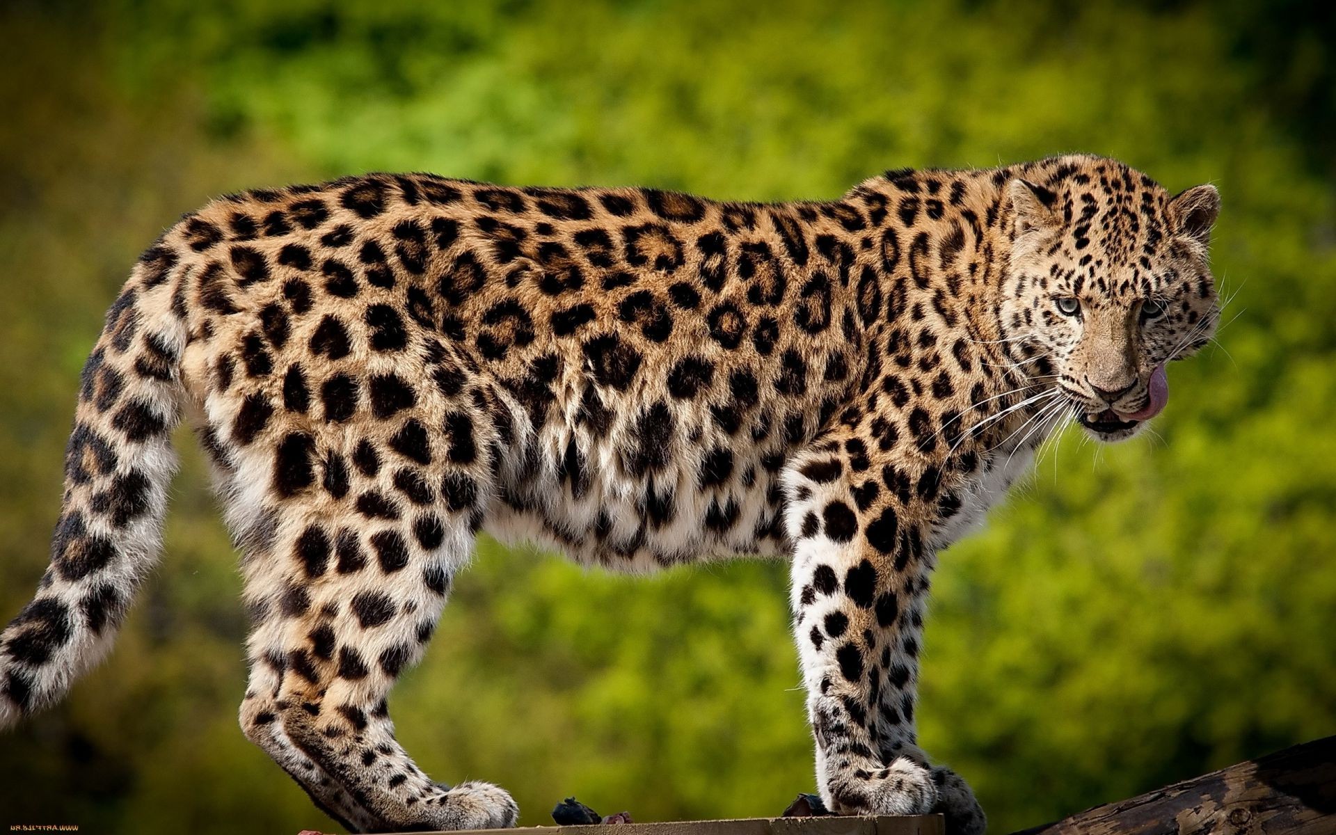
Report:
[[[1134,436],[1213,338],[1214,186],[1070,154],[834,200],[367,174],[244,191],[135,263],[83,367],[0,727],[106,655],[188,418],[239,552],[243,733],[349,831],[514,826],[387,696],[474,541],[647,573],[784,560],[822,802],[986,818],[918,745],[938,554],[1071,421]]]

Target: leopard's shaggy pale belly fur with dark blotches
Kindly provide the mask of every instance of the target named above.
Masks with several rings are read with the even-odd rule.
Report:
[[[708,413],[655,399],[591,425],[588,381],[566,382],[554,386],[560,420],[521,428],[506,450],[484,532],[627,572],[784,552],[786,442],[771,415],[756,410],[729,434]]]

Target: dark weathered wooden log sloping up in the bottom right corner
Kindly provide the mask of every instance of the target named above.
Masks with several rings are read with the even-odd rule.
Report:
[[[1336,736],[1014,835],[1332,835]]]

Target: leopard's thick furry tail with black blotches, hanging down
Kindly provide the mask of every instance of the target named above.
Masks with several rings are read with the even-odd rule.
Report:
[[[84,365],[51,565],[0,632],[0,728],[59,700],[102,659],[156,562],[184,401],[180,273],[162,243],[144,253]]]

